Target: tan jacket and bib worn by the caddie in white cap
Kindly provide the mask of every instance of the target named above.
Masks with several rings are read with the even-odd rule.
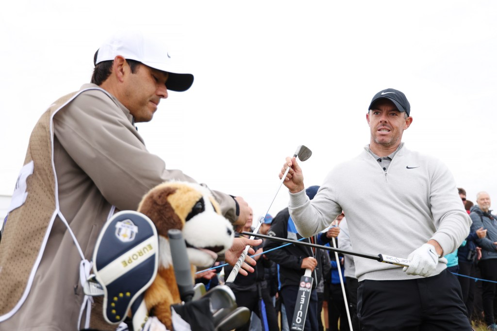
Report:
[[[85,84],[54,102],[31,134],[0,242],[0,331],[77,330],[80,263],[91,260],[113,206],[136,210],[166,180],[194,181],[147,151],[133,117],[112,95]],[[234,222],[235,200],[213,193]],[[92,306],[90,327],[115,330],[98,300]]]

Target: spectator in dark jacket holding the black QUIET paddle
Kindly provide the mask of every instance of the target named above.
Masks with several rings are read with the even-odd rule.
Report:
[[[313,199],[319,186],[310,186],[306,189],[309,199]],[[273,219],[269,236],[299,240],[302,237],[290,217],[288,208],[281,210]],[[316,236],[304,239],[304,242],[317,243]],[[280,243],[273,240],[264,242],[264,251],[277,248]],[[318,293],[316,287],[323,276],[323,254],[321,249],[310,248],[300,245],[289,245],[280,249],[268,251],[266,256],[279,264],[280,294],[285,305],[288,325],[291,327],[295,305],[297,301],[300,278],[304,275],[306,268],[312,270],[313,289],[311,291],[307,318],[305,322],[306,331],[318,330]]]

